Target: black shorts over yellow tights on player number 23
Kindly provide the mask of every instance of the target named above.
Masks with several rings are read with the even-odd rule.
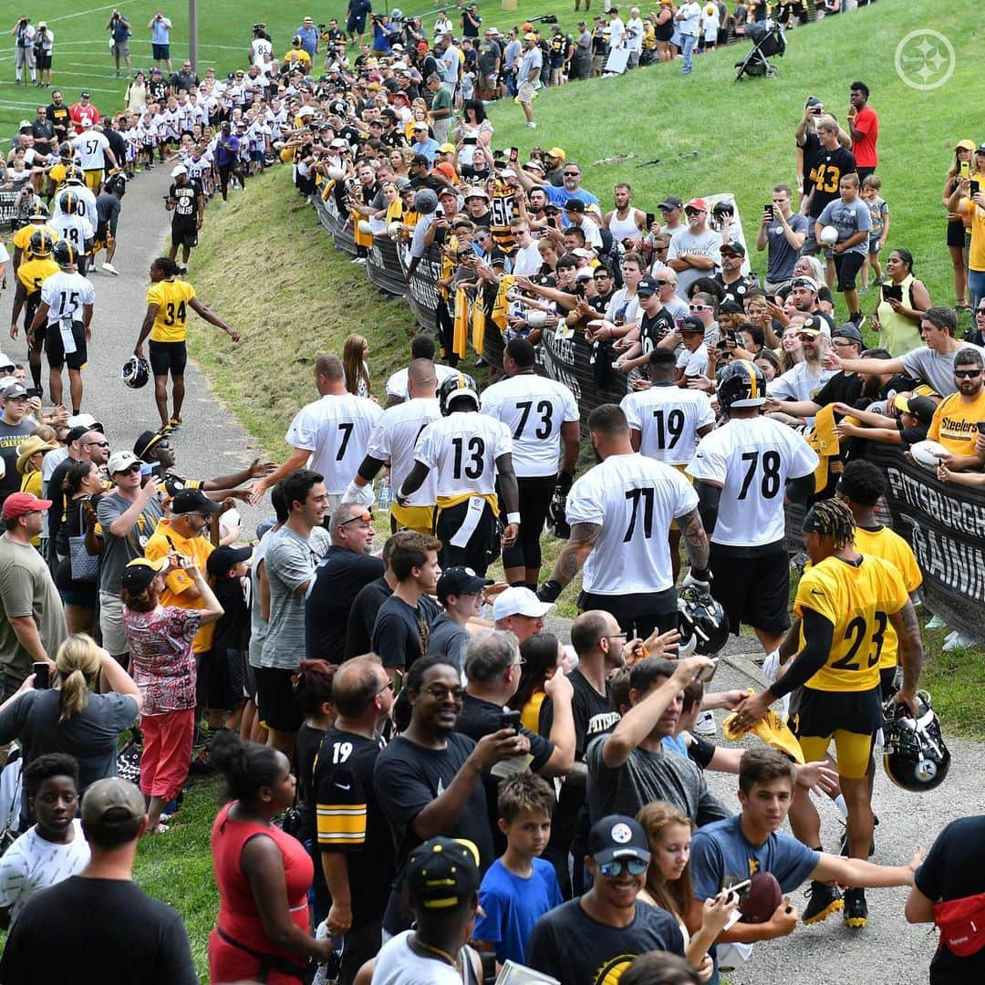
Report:
[[[838,775],[862,779],[869,769],[876,731],[882,725],[880,687],[870,690],[801,688],[788,722],[807,762],[822,759],[834,740]]]

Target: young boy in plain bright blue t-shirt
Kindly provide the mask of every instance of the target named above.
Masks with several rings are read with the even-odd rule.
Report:
[[[479,887],[485,916],[476,921],[474,943],[495,951],[498,964],[524,963],[534,924],[561,903],[554,866],[540,858],[551,836],[555,797],[540,776],[524,774],[499,787],[499,830],[506,851],[490,866]]]

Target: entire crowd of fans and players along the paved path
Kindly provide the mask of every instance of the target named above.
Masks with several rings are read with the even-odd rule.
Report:
[[[697,5],[664,6],[677,21]],[[619,22],[625,36],[636,13]],[[885,479],[865,441],[930,438],[941,481],[983,482],[985,145],[955,146],[944,191],[955,299],[964,307],[969,292],[974,306],[977,334],[962,341],[955,309],[933,303],[889,238],[864,83],[850,85],[840,122],[806,101],[791,127],[796,165],[764,188],[754,244],[736,236],[729,200],[668,193],[658,219],[627,182],[611,202],[584,188],[560,146],[494,149],[484,99],[515,86],[529,108],[534,69],[558,84],[577,51],[556,65],[547,42],[538,65],[523,53],[540,50],[533,26],[501,47],[465,8],[460,43],[453,27],[432,39],[420,22],[372,15],[373,44],[350,61],[346,35],[361,41],[370,16],[352,0],[345,32],[305,19],[282,60],[258,24],[249,68],[225,81],[210,70],[200,82],[190,63],[166,83],[160,68],[138,73],[107,127],[88,97],[75,117],[60,115],[60,94],[52,103],[52,123],[102,132],[110,156],[80,161],[81,180],[72,142],[55,138],[58,164],[32,161],[19,277],[50,253],[50,276],[85,280],[74,254],[63,264],[50,246],[70,237],[45,230],[38,202],[66,211],[70,186],[99,193],[114,167],[136,174],[169,156],[175,219],[136,354],[150,334],[158,431],[111,449],[112,428],[81,413],[81,384],[73,415],[45,413],[39,352],[32,393],[24,367],[0,359],[0,741],[18,741],[23,777],[8,824],[22,833],[0,858],[12,926],[0,981],[53,978],[64,954],[43,944],[66,908],[92,914],[65,931],[70,947],[89,935],[72,951],[80,967],[92,954],[113,980],[195,981],[180,920],[129,881],[138,839],[166,837],[189,776],[213,770],[230,795],[212,832],[215,983],[289,983],[315,965],[346,983],[477,982],[510,961],[565,985],[716,982],[802,918],[843,909],[863,928],[865,887],[910,886],[914,922],[973,895],[980,820],[946,828],[922,865],[867,861],[881,706],[917,714],[922,575],[876,517]],[[607,16],[612,44],[618,11]],[[660,60],[662,16],[642,49]],[[110,19],[107,30],[122,29]],[[129,50],[112,36],[118,63]],[[170,71],[165,47],[154,54]],[[33,152],[22,136],[19,172]],[[173,258],[183,249],[189,261],[207,200],[278,158],[302,195],[341,217],[355,263],[378,238],[398,243],[408,282],[439,257],[437,338],[417,336],[374,397],[369,345],[351,335],[341,356],[315,361],[285,461],[189,479],[172,447],[183,349],[154,349],[183,335],[152,326],[186,285]],[[99,231],[83,238],[93,251]],[[26,334],[50,308],[50,292],[37,294]],[[74,326],[52,324],[68,344]],[[482,390],[461,371],[477,324],[504,342]],[[600,388],[625,380],[622,404],[582,420],[571,390],[538,371],[549,333],[583,339]],[[583,433],[599,464],[576,480]],[[268,492],[274,515],[255,546],[237,547],[236,498]],[[808,508],[793,624],[785,498]],[[378,555],[377,501],[391,529]],[[549,522],[564,546],[545,580]],[[854,581],[839,580],[845,570]],[[566,646],[545,620],[579,572]],[[695,626],[718,633],[717,649],[744,624],[772,684],[708,689],[714,661],[687,655]],[[853,663],[870,624],[869,659]],[[946,646],[971,641],[955,630]],[[790,699],[793,734],[767,710]],[[772,748],[711,742],[717,709]],[[132,755],[118,756],[128,730]],[[837,761],[824,758],[832,739]],[[706,769],[738,774],[740,814],[710,792]],[[818,788],[846,818],[841,854],[822,850]],[[796,837],[779,831],[788,813]],[[783,894],[738,919],[760,870]],[[790,893],[809,881],[801,914]],[[933,980],[980,973],[981,961],[944,948]]]

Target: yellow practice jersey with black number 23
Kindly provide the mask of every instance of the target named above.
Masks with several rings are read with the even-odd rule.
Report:
[[[807,682],[816,690],[871,690],[879,685],[889,616],[909,601],[900,573],[883,558],[863,555],[858,565],[824,558],[804,572],[794,612],[812,609],[834,626],[821,670]],[[804,628],[801,626],[801,649]]]

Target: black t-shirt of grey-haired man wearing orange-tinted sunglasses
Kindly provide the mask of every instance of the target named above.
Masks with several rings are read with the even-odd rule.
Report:
[[[346,622],[361,588],[383,574],[379,558],[333,545],[314,569],[304,602],[304,649],[309,659],[342,662]],[[361,650],[365,653],[365,650]]]

